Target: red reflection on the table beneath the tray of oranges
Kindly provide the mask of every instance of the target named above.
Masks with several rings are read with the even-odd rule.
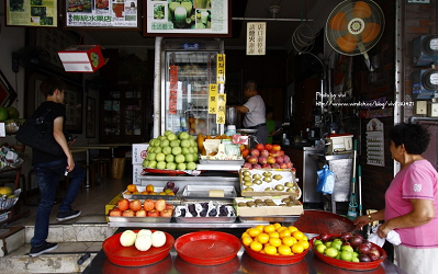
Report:
[[[317,260],[317,259],[316,259]],[[285,274],[285,273],[294,273],[294,274],[307,274],[309,273],[309,266],[307,261],[302,260],[295,264],[289,265],[273,265],[262,263],[252,259],[247,252],[243,254],[240,258],[240,263],[244,273],[251,274]],[[328,274],[328,273],[327,273]],[[331,273],[333,274],[333,273]]]

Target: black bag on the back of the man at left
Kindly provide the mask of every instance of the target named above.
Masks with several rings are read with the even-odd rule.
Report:
[[[27,118],[16,132],[15,139],[33,149],[53,156],[61,156],[64,151],[61,146],[55,140],[54,125],[45,121],[45,117],[52,110],[47,109],[47,112],[38,118]]]

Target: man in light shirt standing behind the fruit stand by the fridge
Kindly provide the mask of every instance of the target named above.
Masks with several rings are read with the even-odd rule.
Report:
[[[245,113],[244,127],[258,129],[255,134],[256,140],[266,144],[268,129],[266,125],[266,104],[258,93],[258,87],[255,81],[248,81],[244,85],[244,95],[248,98],[244,105],[236,106],[239,113]]]

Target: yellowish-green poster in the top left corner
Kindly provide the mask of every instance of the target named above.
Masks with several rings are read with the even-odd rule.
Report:
[[[5,0],[7,25],[58,26],[57,0]]]

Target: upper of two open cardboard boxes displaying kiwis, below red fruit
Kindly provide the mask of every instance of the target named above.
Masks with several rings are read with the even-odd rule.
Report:
[[[249,174],[251,181],[245,181],[246,174]],[[266,178],[270,178],[271,181],[264,181]],[[257,183],[257,180],[260,180],[260,184]],[[239,185],[240,195],[244,197],[293,195],[299,199],[302,196],[302,190],[295,181],[295,169],[249,170],[243,168],[239,170]],[[275,190],[277,185],[282,185],[283,190]],[[251,187],[252,191],[246,191],[246,187]],[[267,189],[272,189],[272,191],[266,191]]]

